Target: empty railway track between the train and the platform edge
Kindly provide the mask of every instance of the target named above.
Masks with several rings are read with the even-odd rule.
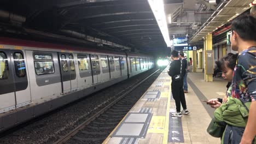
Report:
[[[160,73],[161,70],[158,69],[141,82],[126,88],[129,90],[62,136],[54,144],[103,142]]]

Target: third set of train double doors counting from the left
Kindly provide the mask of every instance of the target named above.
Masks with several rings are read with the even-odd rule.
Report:
[[[101,82],[100,61],[97,55],[91,55],[91,67],[92,67],[93,83],[96,84],[98,82]]]

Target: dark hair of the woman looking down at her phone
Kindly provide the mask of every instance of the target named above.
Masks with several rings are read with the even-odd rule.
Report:
[[[228,53],[228,55],[226,55],[225,57],[220,58],[217,63],[218,69],[224,70],[225,65],[226,65],[228,68],[234,70],[234,68],[236,67],[237,57],[238,57],[238,53],[236,53],[236,54]]]

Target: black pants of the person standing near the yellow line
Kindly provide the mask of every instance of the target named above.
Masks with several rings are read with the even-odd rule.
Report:
[[[172,96],[175,100],[177,112],[181,112],[181,104],[183,109],[187,109],[185,94],[183,90],[183,80],[182,83],[172,81]]]

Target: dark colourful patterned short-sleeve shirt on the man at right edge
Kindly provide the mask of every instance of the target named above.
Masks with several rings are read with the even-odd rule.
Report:
[[[256,101],[256,47],[239,53],[227,96],[245,102]]]

